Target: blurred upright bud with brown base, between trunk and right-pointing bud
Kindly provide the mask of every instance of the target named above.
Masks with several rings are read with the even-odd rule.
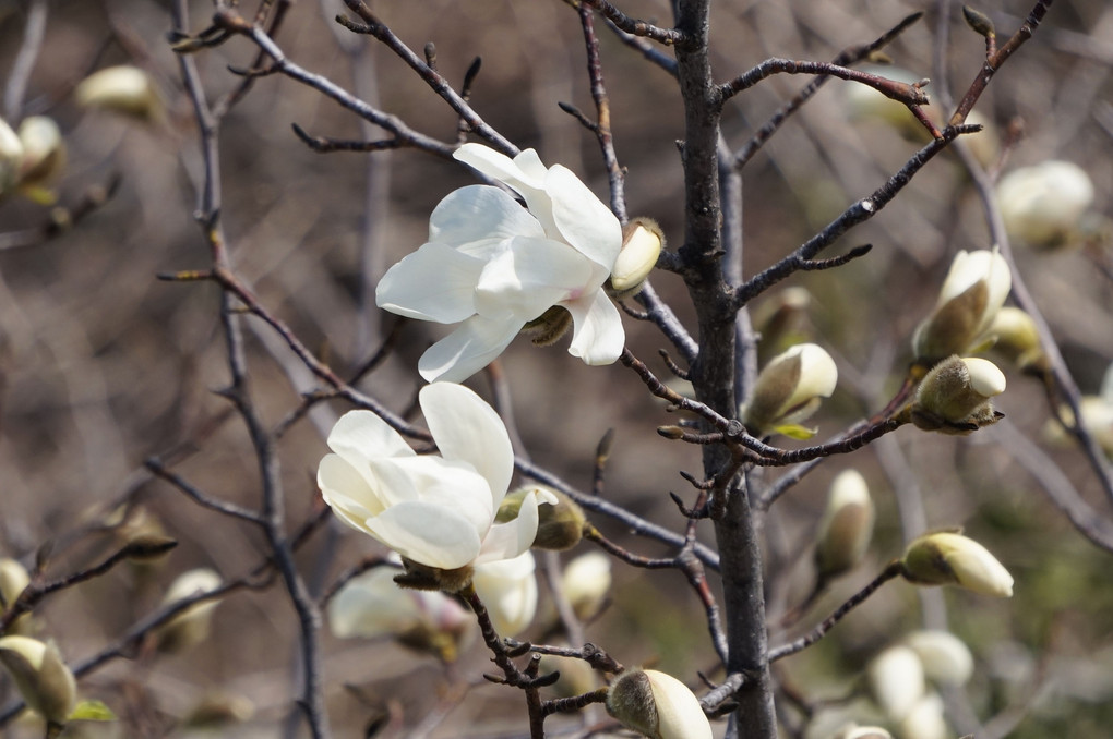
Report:
[[[816,569],[824,580],[853,569],[874,535],[874,500],[857,470],[844,470],[831,482],[827,510],[816,535]]]

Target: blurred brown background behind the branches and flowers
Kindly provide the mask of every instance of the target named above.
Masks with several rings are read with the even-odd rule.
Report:
[[[13,73],[33,4],[0,2],[0,79]],[[218,290],[156,279],[209,267],[193,218],[203,174],[198,134],[166,41],[167,3],[41,4],[48,10],[41,51],[22,101],[14,110],[9,106],[4,117],[13,127],[31,114],[58,122],[68,152],[55,183],[58,206],[72,209],[91,189],[117,178],[119,184],[101,207],[50,238],[21,234],[39,232],[57,218],[51,207],[19,197],[0,200],[0,556],[31,567],[36,551],[53,542],[48,572],[57,576],[98,560],[137,529],[161,530],[179,542],[158,562],[119,567],[36,610],[40,632],[55,638],[67,659],[78,660],[157,607],[177,575],[205,567],[238,577],[266,557],[267,547],[255,528],[198,507],[142,466],[158,456],[210,496],[258,506],[249,439],[216,395],[228,382]],[[620,4],[631,16],[668,23],[667,2]],[[949,7],[946,22],[939,6]],[[572,169],[607,200],[594,137],[558,108],[563,101],[589,117],[593,110],[573,9],[558,0],[418,0],[373,8],[411,48],[434,43],[439,70],[456,87],[481,57],[471,97],[475,110],[519,147],[535,148],[548,164]],[[1021,0],[979,9],[1002,37],[1030,11]],[[339,10],[335,0],[293,6],[279,46],[305,69],[424,133],[454,141],[457,121],[447,106],[388,50],[334,23]],[[886,53],[913,79],[933,78],[933,100],[958,97],[981,68],[984,42],[962,21],[957,6],[946,2],[717,2],[712,63],[717,78],[726,80],[767,57],[829,60],[920,10],[925,18]],[[191,29],[204,28],[211,11],[207,2],[190,3]],[[242,12],[250,17],[254,8]],[[683,128],[676,83],[601,21],[597,27],[629,212],[657,219],[679,244],[683,196],[677,141]],[[946,46],[937,68],[940,39]],[[246,68],[255,54],[244,39],[196,54],[208,99],[235,89],[239,78],[229,66]],[[150,119],[76,103],[75,86],[115,64],[137,66],[155,80],[161,108]],[[1103,0],[1058,0],[976,108],[987,131],[975,139],[989,149],[992,169],[1007,172],[1061,159],[1081,166],[1093,182],[1087,218],[1097,226],[1089,236],[1072,236],[1056,248],[1014,243],[1023,278],[1089,396],[1099,393],[1113,360],[1113,260],[1101,232],[1107,228],[1102,219],[1113,213],[1111,71],[1113,8]],[[807,81],[775,76],[735,98],[723,117],[728,144],[741,147]],[[909,140],[915,134],[902,123],[864,111],[851,87],[831,80],[745,169],[747,276],[879,187],[922,144]],[[382,136],[365,131],[355,116],[313,89],[282,76],[262,78],[224,121],[220,213],[236,272],[306,346],[348,376],[395,323],[374,307],[377,276],[424,241],[433,207],[472,180],[454,162],[415,150],[315,153],[294,136],[295,123],[311,136]],[[839,389],[814,419],[819,438],[884,407],[912,359],[912,332],[934,307],[954,253],[992,246],[981,202],[951,151],[831,253],[861,243],[874,244],[867,258],[837,271],[792,277],[754,304],[760,316],[769,310],[764,303],[775,303],[784,290],[807,291],[797,336],[827,348],[840,370]],[[695,330],[681,281],[661,273],[653,283]],[[656,354],[668,348],[667,340],[649,323],[623,320],[630,348],[664,376]],[[266,326],[253,320],[245,326],[255,402],[265,420],[277,425],[298,407],[298,393],[316,385]],[[420,386],[416,359],[443,334],[442,327],[405,324],[388,361],[358,387],[405,411]],[[851,693],[878,651],[926,622],[949,628],[975,657],[972,681],[961,696],[948,697],[951,736],[973,731],[978,722],[996,731],[983,736],[1109,736],[1113,556],[1086,541],[1048,502],[1038,472],[1061,471],[1095,516],[1107,520],[1113,509],[1083,455],[1056,441],[1038,382],[1002,367],[1008,390],[999,399],[1006,421],[998,427],[968,438],[902,429],[829,460],[775,506],[768,529],[772,612],[800,600],[811,583],[816,522],[837,472],[849,467],[863,472],[878,518],[866,561],[836,582],[800,625],[788,632],[775,628],[772,642],[802,633],[898,556],[904,541],[933,528],[965,527],[1014,575],[1016,596],[997,601],[934,591],[920,598],[909,586],[893,583],[821,645],[778,666],[778,677],[799,695],[816,700]],[[607,498],[683,530],[668,492],[692,498],[678,470],[698,473],[698,450],[658,437],[656,427],[674,417],[628,370],[584,367],[564,344],[536,349],[526,341],[511,346],[502,370],[522,451],[589,490],[595,445],[614,428]],[[485,376],[470,385],[490,397]],[[344,410],[341,402],[319,405],[279,441],[290,531],[319,506],[316,466],[326,451],[324,436]],[[636,552],[669,552],[612,521],[592,520]],[[705,541],[708,535],[705,525]],[[582,543],[569,557],[589,549]],[[378,553],[373,540],[332,522],[298,551],[298,565],[322,592],[342,570]],[[541,638],[543,620],[521,637]],[[170,655],[148,650],[83,678],[80,693],[104,700],[120,720],[73,725],[66,736],[193,736],[199,730],[187,719],[199,705],[233,698],[237,711],[226,718],[238,723],[220,725],[213,736],[284,736],[298,690],[292,667],[296,633],[280,586],[237,592],[221,601],[209,637],[195,648]],[[656,665],[689,685],[696,685],[696,670],[721,677],[713,672],[702,609],[672,572],[615,562],[610,606],[585,636],[627,665]],[[444,667],[388,639],[339,640],[326,628],[324,650],[336,737],[364,736],[380,720],[376,736],[526,736],[519,695],[481,679],[490,663],[480,646]],[[8,682],[0,682],[0,696],[3,706],[12,699]],[[833,729],[845,718],[868,720],[870,710],[859,699],[818,711],[816,721]],[[575,725],[550,726],[555,731]],[[41,736],[33,728],[10,726],[4,736],[9,731]],[[816,727],[807,736],[821,739],[823,731]]]

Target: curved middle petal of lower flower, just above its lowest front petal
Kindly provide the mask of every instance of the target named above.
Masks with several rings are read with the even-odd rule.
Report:
[[[430,456],[380,459],[372,468],[386,508],[420,501],[451,509],[480,537],[494,520],[491,486],[471,465]]]

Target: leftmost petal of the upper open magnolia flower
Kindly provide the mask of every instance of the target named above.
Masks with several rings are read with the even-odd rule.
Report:
[[[426,243],[386,270],[375,288],[375,303],[398,316],[455,323],[475,312],[482,272],[483,260],[444,243]]]

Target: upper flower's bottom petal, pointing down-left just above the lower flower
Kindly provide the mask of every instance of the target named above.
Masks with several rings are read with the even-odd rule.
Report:
[[[425,350],[417,371],[429,382],[463,382],[501,354],[521,329],[514,316],[472,316]]]

